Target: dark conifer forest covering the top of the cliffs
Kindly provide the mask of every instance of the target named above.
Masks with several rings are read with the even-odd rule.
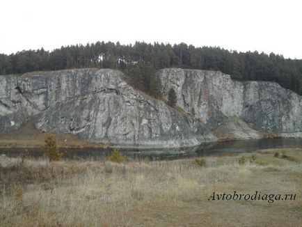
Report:
[[[194,47],[183,42],[178,45],[95,42],[61,47],[51,52],[41,48],[0,54],[0,75],[70,68],[122,70],[138,88],[154,94],[157,93],[154,90],[158,90],[158,81],[153,81],[156,70],[189,68],[219,70],[237,80],[276,81],[302,95],[302,60],[285,59],[273,53],[243,53],[220,47]]]

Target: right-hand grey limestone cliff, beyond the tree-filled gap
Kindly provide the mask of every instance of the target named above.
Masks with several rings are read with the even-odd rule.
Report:
[[[162,93],[177,93],[177,105],[209,129],[244,120],[261,132],[302,132],[301,96],[267,81],[233,81],[230,75],[203,70],[164,69],[159,72]]]

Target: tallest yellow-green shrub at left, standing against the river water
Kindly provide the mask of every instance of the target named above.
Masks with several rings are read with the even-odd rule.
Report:
[[[45,145],[42,148],[44,150],[44,155],[49,159],[49,162],[58,161],[58,159],[63,156],[63,153],[58,152],[54,134],[47,134],[45,136]]]

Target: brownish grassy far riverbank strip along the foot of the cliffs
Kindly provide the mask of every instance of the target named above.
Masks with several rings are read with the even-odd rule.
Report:
[[[219,133],[220,134],[219,134]],[[230,132],[230,129],[226,130],[216,130],[217,139],[214,141],[208,142],[227,142],[227,141],[246,141],[246,140],[254,140],[254,139],[298,139],[302,138],[302,132],[296,133],[283,133],[283,134],[273,134],[273,133],[262,133],[257,136],[251,136],[251,132],[249,132],[250,136],[239,137],[238,134],[244,135],[247,132],[240,133],[238,132],[236,136],[225,136],[227,132]],[[29,121],[29,123],[25,123],[18,130],[15,130],[10,133],[1,134],[0,133],[0,148],[41,148],[44,145],[46,133],[37,130],[34,125],[34,120]],[[89,143],[88,141],[84,141],[79,139],[79,137],[69,134],[69,133],[61,133],[55,134],[56,140],[58,143],[58,148],[125,148],[125,149],[173,149],[173,148],[194,148],[200,145],[200,142],[196,141],[196,143],[192,143],[191,146],[117,146],[117,145],[109,145],[104,143]]]

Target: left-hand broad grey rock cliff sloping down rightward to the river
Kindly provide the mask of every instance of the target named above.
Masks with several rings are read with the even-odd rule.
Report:
[[[31,118],[43,132],[94,143],[190,146],[214,136],[186,114],[129,86],[116,70],[63,70],[0,77],[0,128]]]

